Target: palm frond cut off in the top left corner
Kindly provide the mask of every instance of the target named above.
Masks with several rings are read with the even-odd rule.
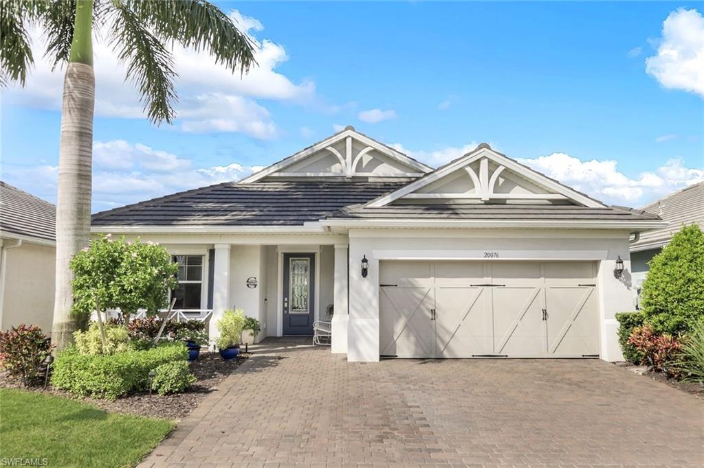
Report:
[[[0,86],[8,82],[25,85],[27,70],[34,63],[30,37],[25,23],[31,18],[27,4],[0,1]]]

